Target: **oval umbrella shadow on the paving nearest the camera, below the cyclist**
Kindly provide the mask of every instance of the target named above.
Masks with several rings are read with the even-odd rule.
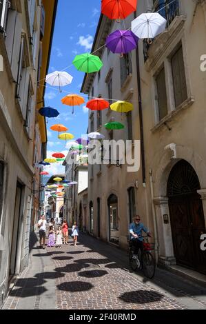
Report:
[[[151,290],[137,290],[134,292],[124,292],[119,298],[125,303],[145,304],[161,301],[164,296]]]

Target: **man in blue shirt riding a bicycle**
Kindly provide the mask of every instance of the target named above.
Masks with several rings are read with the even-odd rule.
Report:
[[[133,217],[133,222],[130,224],[130,241],[134,246],[134,258],[138,258],[138,250],[143,252],[143,236],[142,231],[147,233],[148,236],[152,236],[147,227],[141,223],[141,218],[139,215]]]

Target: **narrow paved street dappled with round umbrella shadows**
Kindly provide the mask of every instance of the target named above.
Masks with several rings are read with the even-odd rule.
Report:
[[[39,249],[14,282],[3,310],[166,310],[206,308],[206,288],[158,269],[149,281],[130,272],[127,253],[81,234],[76,247]]]

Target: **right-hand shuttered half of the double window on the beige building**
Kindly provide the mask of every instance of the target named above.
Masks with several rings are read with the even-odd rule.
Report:
[[[181,103],[187,99],[187,84],[182,46],[172,57],[171,63],[174,83],[174,99],[175,105],[178,107],[178,105],[181,105]]]

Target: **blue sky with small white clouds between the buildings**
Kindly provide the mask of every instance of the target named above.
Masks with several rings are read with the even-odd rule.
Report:
[[[72,65],[76,54],[91,52],[100,14],[101,0],[59,0],[49,73],[65,70]],[[68,132],[74,135],[74,140],[87,132],[88,110],[85,108],[87,96],[80,93],[84,73],[76,70],[73,65],[65,72],[71,74],[74,79],[70,85],[62,88],[63,92],[60,93],[59,88],[52,85],[47,85],[45,90],[45,106],[55,108],[60,113],[57,118],[49,119],[47,123],[48,157],[54,152],[68,153],[65,141],[59,140],[58,133],[50,130],[50,126],[56,123],[65,125]],[[74,107],[74,114],[72,107],[61,103],[61,99],[71,93],[79,94],[85,99],[85,104]],[[50,174],[64,173],[64,169],[61,163],[44,168]]]

